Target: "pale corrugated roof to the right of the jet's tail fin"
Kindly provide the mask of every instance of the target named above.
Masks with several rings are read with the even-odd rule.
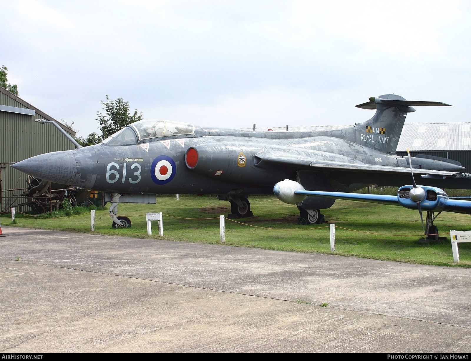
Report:
[[[471,122],[404,124],[398,152],[467,151],[471,149]]]

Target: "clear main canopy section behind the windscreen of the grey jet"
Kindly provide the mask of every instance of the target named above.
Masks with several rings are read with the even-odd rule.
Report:
[[[136,130],[139,140],[160,136],[183,136],[195,133],[193,124],[171,120],[140,120],[130,125]]]

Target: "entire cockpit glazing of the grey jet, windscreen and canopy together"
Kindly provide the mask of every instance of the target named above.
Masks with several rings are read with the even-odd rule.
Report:
[[[192,136],[195,125],[173,120],[139,120],[106,138],[106,145],[132,145],[152,138]],[[136,137],[137,135],[137,137]]]

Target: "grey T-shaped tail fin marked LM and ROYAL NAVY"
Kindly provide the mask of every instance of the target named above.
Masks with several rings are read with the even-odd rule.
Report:
[[[384,153],[396,152],[406,115],[415,112],[411,105],[452,106],[441,102],[406,100],[394,94],[372,96],[369,102],[357,105],[357,108],[376,109],[376,113],[370,120],[355,124],[356,143]]]

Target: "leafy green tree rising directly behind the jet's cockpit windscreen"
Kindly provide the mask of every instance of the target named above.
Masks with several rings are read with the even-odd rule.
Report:
[[[142,113],[138,113],[137,110],[134,111],[134,114],[130,114],[129,102],[125,102],[122,98],[110,100],[110,97],[106,96],[106,100],[106,102],[100,101],[106,114],[103,115],[100,111],[97,112],[97,120],[104,139],[128,124],[142,120]]]

